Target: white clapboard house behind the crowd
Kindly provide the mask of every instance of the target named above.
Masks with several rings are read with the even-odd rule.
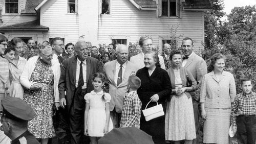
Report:
[[[8,39],[61,37],[65,43],[93,44],[129,44],[150,35],[160,47],[171,39],[179,46],[181,38],[191,37],[200,47],[207,10],[209,0],[1,0],[0,32]]]

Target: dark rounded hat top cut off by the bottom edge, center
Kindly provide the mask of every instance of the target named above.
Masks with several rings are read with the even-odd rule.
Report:
[[[135,128],[114,128],[108,134],[104,135],[98,140],[99,144],[154,144],[152,136],[144,131]]]

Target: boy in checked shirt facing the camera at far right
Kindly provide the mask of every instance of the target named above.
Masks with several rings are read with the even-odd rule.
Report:
[[[237,131],[238,143],[256,143],[256,93],[251,79],[241,79],[243,92],[237,94],[231,108],[231,123]]]

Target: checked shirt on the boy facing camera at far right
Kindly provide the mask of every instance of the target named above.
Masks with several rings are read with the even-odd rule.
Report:
[[[231,123],[237,127],[236,116],[238,115],[255,115],[256,116],[256,93],[251,91],[248,97],[244,93],[237,94],[231,108]]]

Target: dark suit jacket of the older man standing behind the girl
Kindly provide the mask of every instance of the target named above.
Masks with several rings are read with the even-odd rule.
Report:
[[[93,85],[92,85],[92,75],[97,72],[103,72],[100,63],[97,59],[87,57],[87,91],[92,91]],[[76,63],[77,63],[77,57],[72,57],[69,59],[66,59],[63,62],[63,66],[61,68],[61,74],[59,79],[59,97],[60,99],[65,98],[65,91],[67,92],[67,106],[68,110],[70,109],[70,105],[74,98],[75,93],[75,83],[76,83]]]

